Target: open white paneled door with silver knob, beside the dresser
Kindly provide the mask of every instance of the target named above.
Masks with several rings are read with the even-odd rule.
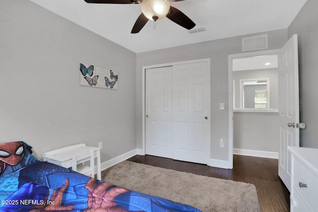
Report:
[[[278,175],[290,190],[291,155],[287,146],[299,146],[298,42],[293,35],[279,55],[280,151]]]

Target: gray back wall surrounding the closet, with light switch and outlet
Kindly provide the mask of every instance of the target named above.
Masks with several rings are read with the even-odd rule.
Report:
[[[268,49],[281,48],[287,41],[287,29],[274,30],[259,34],[268,34]],[[136,78],[136,128],[137,147],[142,148],[142,67],[179,61],[210,58],[211,60],[211,158],[228,160],[229,144],[229,88],[228,56],[242,53],[241,39],[237,36],[226,39],[202,42],[191,45],[161,49],[137,54]],[[154,41],[156,42],[156,41]],[[219,103],[225,103],[225,110],[219,109]],[[219,146],[224,139],[225,147]]]

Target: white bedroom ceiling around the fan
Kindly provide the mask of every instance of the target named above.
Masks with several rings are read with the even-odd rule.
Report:
[[[163,18],[131,34],[140,4],[84,0],[31,0],[135,53],[287,28],[306,0],[184,0],[170,2],[206,31],[188,30]]]

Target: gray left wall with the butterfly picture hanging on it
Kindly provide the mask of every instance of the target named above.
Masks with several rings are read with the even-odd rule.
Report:
[[[119,72],[118,90],[79,85],[79,63]],[[103,142],[106,161],[136,148],[136,54],[27,0],[0,1],[0,142],[35,155]]]

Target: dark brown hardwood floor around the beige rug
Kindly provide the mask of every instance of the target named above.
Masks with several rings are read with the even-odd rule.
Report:
[[[289,191],[278,177],[278,160],[233,155],[233,169],[215,168],[203,164],[168,158],[136,155],[129,161],[209,177],[252,183],[255,185],[262,212],[289,212]]]

